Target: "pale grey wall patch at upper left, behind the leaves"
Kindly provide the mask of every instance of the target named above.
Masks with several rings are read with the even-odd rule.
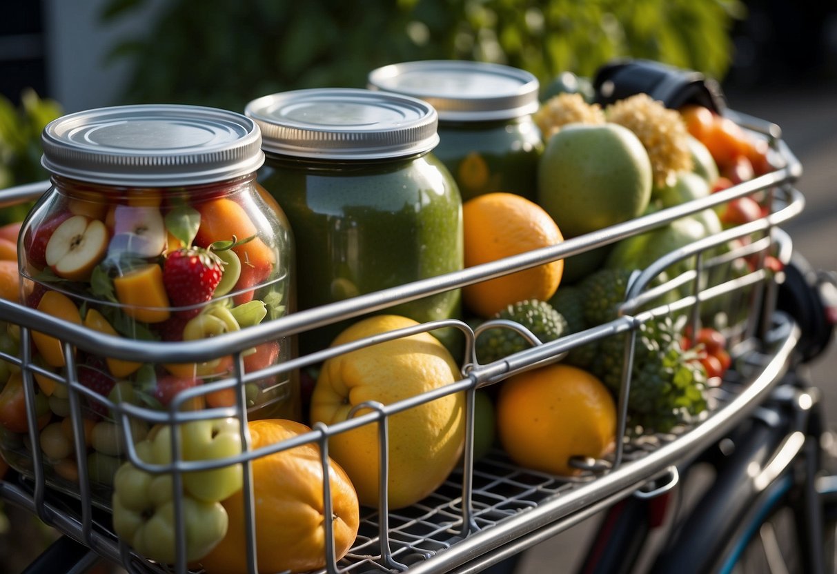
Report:
[[[99,14],[104,0],[42,0],[49,95],[66,112],[116,105],[130,69],[107,63],[119,41],[141,35],[165,0],[152,0],[142,13],[106,26]]]

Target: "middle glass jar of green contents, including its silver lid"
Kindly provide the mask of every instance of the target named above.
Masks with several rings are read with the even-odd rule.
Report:
[[[262,131],[259,181],[294,230],[300,309],[462,269],[462,202],[431,153],[431,105],[315,89],[266,95],[244,113]],[[454,290],[386,312],[424,322],[456,315],[459,303]],[[346,325],[300,334],[300,351],[329,346]]]

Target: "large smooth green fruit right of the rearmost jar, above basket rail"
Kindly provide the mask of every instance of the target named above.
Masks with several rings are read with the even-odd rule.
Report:
[[[565,238],[642,214],[651,197],[651,162],[642,142],[616,124],[568,124],[538,164],[537,203]]]

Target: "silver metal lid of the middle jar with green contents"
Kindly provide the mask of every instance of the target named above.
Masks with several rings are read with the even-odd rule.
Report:
[[[244,114],[262,131],[264,151],[316,159],[412,156],[439,143],[432,105],[404,95],[315,88],[265,95]]]

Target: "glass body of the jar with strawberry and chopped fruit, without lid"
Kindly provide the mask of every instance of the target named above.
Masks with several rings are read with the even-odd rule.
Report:
[[[278,318],[295,305],[295,264],[290,226],[271,203],[254,173],[224,182],[157,188],[53,177],[53,187],[20,232],[22,301],[106,335],[142,341],[203,339]],[[193,295],[203,279],[193,281],[191,274],[184,274],[188,272],[169,275],[167,264],[187,253],[184,233],[192,247],[208,249],[214,243],[210,251],[222,271],[208,295]],[[186,263],[191,264],[195,261]],[[39,418],[44,474],[53,486],[78,492],[69,422],[81,417],[85,433],[90,432],[85,443],[92,498],[105,508],[116,469],[125,459],[124,441],[144,438],[153,417],[131,417],[132,432],[126,437],[119,417],[95,396],[131,402],[145,413],[238,404],[238,387],[198,389],[186,401],[175,399],[184,389],[194,392],[192,387],[234,377],[234,357],[224,356],[223,350],[206,362],[161,364],[117,360],[79,348],[73,355],[75,376],[96,394],[79,394],[80,411],[73,411],[66,384],[72,374],[59,341],[36,332],[32,341],[33,363],[57,375],[52,381],[35,377],[36,404],[44,417],[43,423]],[[288,361],[294,353],[290,338],[268,341],[242,353],[244,372]],[[249,418],[300,419],[295,373],[247,382],[244,391]],[[57,427],[64,427],[63,435]],[[31,445],[25,435],[5,433],[0,448],[10,464],[31,474]]]

